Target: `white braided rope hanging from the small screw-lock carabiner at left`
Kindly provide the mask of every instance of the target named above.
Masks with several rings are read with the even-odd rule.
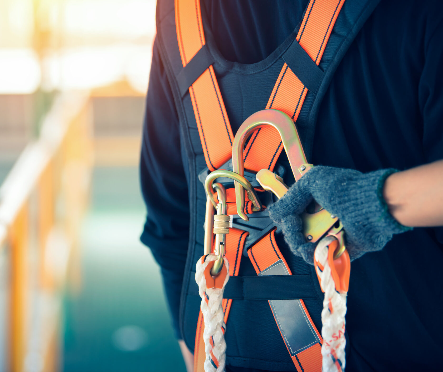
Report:
[[[226,325],[223,320],[224,314],[223,308],[221,307],[221,301],[223,299],[223,291],[225,290],[226,283],[229,280],[229,263],[228,260],[224,258],[228,274],[226,275],[223,288],[207,288],[204,271],[210,261],[215,260],[217,260],[217,256],[211,253],[206,257],[206,260],[203,263],[203,260],[200,258],[195,266],[195,281],[198,284],[198,294],[202,298],[200,309],[205,322],[205,330],[203,331],[206,353],[204,365],[205,372],[224,372],[226,360],[226,342],[223,331],[223,329],[226,329]],[[218,360],[218,368],[214,367],[214,364],[211,362],[211,352]]]

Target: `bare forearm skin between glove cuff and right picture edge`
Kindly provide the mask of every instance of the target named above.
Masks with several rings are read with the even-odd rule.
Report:
[[[383,197],[404,226],[443,226],[443,160],[391,174]]]

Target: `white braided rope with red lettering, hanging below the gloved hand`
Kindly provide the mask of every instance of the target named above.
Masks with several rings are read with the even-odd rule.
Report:
[[[325,292],[322,311],[322,356],[323,372],[345,370],[345,315],[347,292],[338,293],[328,263],[328,245],[334,237],[323,238],[315,249],[315,260],[323,266],[323,272],[316,265],[315,270],[320,278],[320,286]],[[332,311],[330,311],[330,307]],[[341,368],[340,368],[341,365]]]

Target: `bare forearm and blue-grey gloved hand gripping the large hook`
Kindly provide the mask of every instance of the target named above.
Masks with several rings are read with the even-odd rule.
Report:
[[[443,225],[443,161],[403,172],[316,166],[268,207],[292,252],[313,263],[315,244],[306,242],[301,213],[315,200],[337,216],[346,231],[351,260],[382,249],[414,226]]]

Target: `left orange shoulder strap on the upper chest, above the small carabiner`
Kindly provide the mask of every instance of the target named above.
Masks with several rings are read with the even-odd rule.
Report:
[[[175,25],[183,67],[205,45],[199,0],[175,0]],[[231,157],[234,135],[210,66],[189,88],[206,165],[213,171]]]

